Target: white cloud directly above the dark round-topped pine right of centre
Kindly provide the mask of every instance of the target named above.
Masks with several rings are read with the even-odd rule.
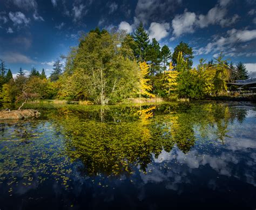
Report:
[[[193,33],[196,14],[185,11],[183,15],[176,15],[172,20],[173,35],[179,37],[183,33]]]

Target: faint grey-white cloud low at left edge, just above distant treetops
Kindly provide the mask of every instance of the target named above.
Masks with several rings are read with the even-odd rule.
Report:
[[[32,59],[18,52],[6,52],[1,55],[3,60],[10,63],[22,63],[22,64],[31,64],[35,63]]]

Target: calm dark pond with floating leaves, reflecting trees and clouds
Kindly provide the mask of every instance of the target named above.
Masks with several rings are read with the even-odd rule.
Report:
[[[0,122],[1,210],[256,208],[255,104],[26,108]]]

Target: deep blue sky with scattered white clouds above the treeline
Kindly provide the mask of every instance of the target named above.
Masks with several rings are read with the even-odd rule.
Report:
[[[188,43],[193,66],[223,52],[256,77],[256,0],[0,0],[0,59],[14,75],[35,67],[49,76],[81,34],[97,26],[132,33],[140,22],[171,51]]]

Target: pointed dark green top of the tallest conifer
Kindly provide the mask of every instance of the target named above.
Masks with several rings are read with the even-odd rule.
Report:
[[[135,48],[133,48],[133,51],[137,61],[147,61],[146,55],[149,46],[149,34],[144,30],[142,22],[140,22],[139,26],[134,32],[133,39],[136,43],[136,46]]]

